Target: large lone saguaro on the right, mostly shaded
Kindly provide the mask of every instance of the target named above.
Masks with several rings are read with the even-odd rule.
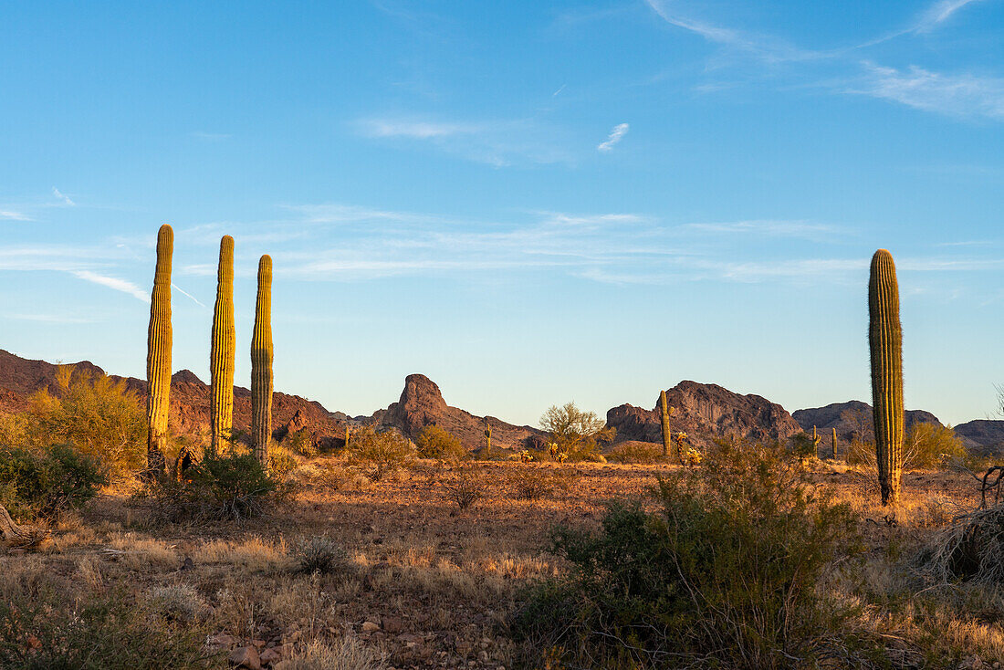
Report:
[[[903,326],[893,255],[878,249],[868,279],[868,346],[878,486],[884,505],[900,497],[903,473]]]

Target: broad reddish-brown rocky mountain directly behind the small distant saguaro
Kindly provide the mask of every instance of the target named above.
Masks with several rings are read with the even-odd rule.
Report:
[[[717,384],[681,382],[666,391],[675,412],[670,417],[674,433],[684,432],[696,442],[715,437],[749,440],[784,440],[801,427],[783,407],[760,396],[742,396]],[[616,429],[616,441],[662,442],[659,398],[653,409],[619,405],[606,412],[606,425]]]

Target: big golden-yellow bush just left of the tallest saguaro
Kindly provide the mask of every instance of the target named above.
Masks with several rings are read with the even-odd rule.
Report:
[[[64,366],[55,386],[55,393],[42,390],[31,396],[25,413],[29,446],[68,442],[113,475],[146,465],[147,417],[124,380]]]

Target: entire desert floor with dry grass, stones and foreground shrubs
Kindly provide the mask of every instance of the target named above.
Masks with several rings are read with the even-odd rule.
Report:
[[[731,480],[714,457],[694,468],[414,459],[373,480],[344,455],[296,456],[296,495],[236,520],[166,520],[135,487],[111,483],[51,521],[49,543],[0,555],[0,666],[957,668],[1004,660],[1000,564],[978,570],[981,552],[999,559],[1000,542],[953,523],[980,504],[969,474],[908,472],[890,508],[863,485],[872,478],[866,468],[794,459],[786,462],[797,476],[773,461],[765,475],[762,463],[728,458]],[[767,477],[760,488],[757,472]],[[788,497],[757,497],[771,491]],[[743,505],[729,502],[740,498]],[[630,626],[589,628],[609,614],[589,608],[620,608],[618,594],[574,610],[584,601],[562,590],[572,580],[615,585],[623,574],[610,569],[639,548],[624,533],[658,537],[666,519],[708,541],[655,547],[662,553],[643,556],[654,571],[645,579],[680,569],[652,561],[690,561],[694,579],[717,594],[705,616],[720,615],[720,626],[701,627],[679,607],[631,602],[618,621],[662,621],[689,631],[688,640],[674,648],[662,638],[649,644],[651,635]],[[992,528],[992,510],[972,520]],[[770,541],[750,535],[758,529]],[[791,530],[818,541],[798,544]],[[604,531],[606,544],[588,544]],[[985,541],[967,544],[974,534]],[[771,605],[797,622],[749,627],[743,617],[755,608],[735,602],[733,587],[753,589],[755,600],[756,589],[790,588],[793,578],[771,572],[769,561],[754,575],[749,552],[716,551],[711,540],[807,556],[803,573],[788,566],[801,580],[791,592],[797,612],[784,612],[783,599]],[[966,550],[973,555],[963,570]],[[955,563],[953,551],[962,556]],[[701,568],[708,561],[714,570]],[[546,617],[541,603],[550,604]],[[547,629],[555,613],[574,615],[558,633]],[[728,625],[742,632],[729,638]],[[616,639],[598,640],[604,634]],[[657,653],[633,651],[646,644]]]

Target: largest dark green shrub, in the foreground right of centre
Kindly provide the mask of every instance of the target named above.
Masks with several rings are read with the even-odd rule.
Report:
[[[598,531],[552,531],[572,570],[524,599],[527,648],[588,667],[810,667],[842,614],[816,585],[856,550],[849,506],[814,497],[781,447],[723,445],[655,492],[658,511],[621,501]]]

